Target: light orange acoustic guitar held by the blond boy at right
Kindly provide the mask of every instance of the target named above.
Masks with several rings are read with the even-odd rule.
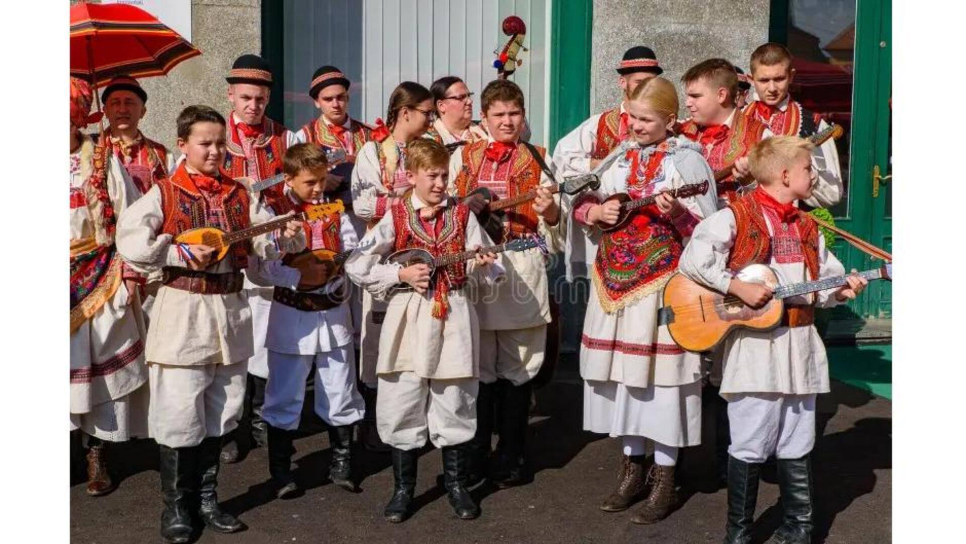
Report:
[[[868,280],[893,278],[893,265],[860,272]],[[784,300],[789,297],[832,289],[847,283],[845,275],[781,285],[778,275],[766,265],[750,265],[738,272],[738,279],[771,287],[774,296],[759,308],[745,304],[734,295],[708,289],[678,272],[664,290],[664,307],[659,322],[668,325],[675,342],[689,352],[715,348],[735,329],[771,330],[781,325]]]

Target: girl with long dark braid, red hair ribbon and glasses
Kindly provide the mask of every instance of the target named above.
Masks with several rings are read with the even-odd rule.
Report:
[[[409,190],[406,146],[422,137],[435,118],[433,95],[426,87],[403,81],[392,91],[385,122],[376,120],[372,139],[359,149],[353,168],[353,209],[355,216],[366,222],[367,231],[383,218],[395,199]],[[379,334],[384,317],[385,302],[373,300],[372,295],[363,290],[359,377],[371,391],[376,390]],[[376,406],[376,395],[370,397],[369,394],[366,395],[366,410]],[[370,437],[370,440],[375,443],[378,437]],[[388,450],[385,444],[372,445]]]

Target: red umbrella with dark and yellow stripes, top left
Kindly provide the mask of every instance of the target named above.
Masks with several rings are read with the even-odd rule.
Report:
[[[197,47],[129,4],[71,6],[71,75],[105,85],[115,75],[165,75]]]

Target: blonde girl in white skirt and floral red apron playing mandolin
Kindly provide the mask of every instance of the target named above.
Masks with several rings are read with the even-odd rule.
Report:
[[[575,201],[568,249],[580,252],[584,242],[578,237],[584,235],[594,242],[591,248],[596,245],[596,255],[586,255],[593,288],[581,341],[583,428],[623,442],[617,488],[600,507],[621,511],[647,493],[632,521],[650,524],[673,507],[678,448],[699,444],[701,429],[700,360],[658,323],[661,290],[697,222],[714,213],[716,196],[713,183],[705,184],[713,174],[700,148],[671,135],[678,100],[667,79],[641,83],[626,108],[628,129],[640,147],[614,162],[598,190]],[[692,192],[702,184],[705,190],[696,196],[661,194]],[[644,207],[622,205],[654,195]],[[645,439],[654,442],[649,471]]]

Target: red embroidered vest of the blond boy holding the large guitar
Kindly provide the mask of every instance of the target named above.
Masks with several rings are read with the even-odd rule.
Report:
[[[734,214],[735,238],[728,254],[727,268],[738,272],[748,265],[770,265],[772,239],[761,205],[751,194],[746,194],[728,204]],[[818,279],[818,226],[814,221],[800,218],[797,221],[802,239],[802,255],[811,279]]]

